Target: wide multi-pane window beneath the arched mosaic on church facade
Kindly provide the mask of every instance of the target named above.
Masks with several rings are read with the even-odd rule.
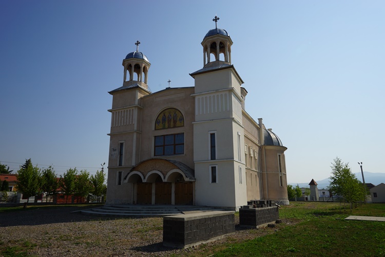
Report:
[[[184,134],[156,136],[154,156],[184,154]]]

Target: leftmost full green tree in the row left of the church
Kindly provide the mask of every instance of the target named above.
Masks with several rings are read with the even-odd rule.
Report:
[[[16,179],[17,191],[22,192],[24,197],[27,197],[27,203],[24,205],[24,208],[27,208],[29,197],[36,196],[41,192],[41,171],[37,165],[32,166],[31,159],[28,159],[20,166],[20,170],[16,173]]]

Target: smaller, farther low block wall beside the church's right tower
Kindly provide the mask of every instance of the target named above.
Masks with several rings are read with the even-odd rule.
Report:
[[[259,227],[279,219],[278,206],[264,208],[250,208],[244,206],[239,209],[239,225]]]

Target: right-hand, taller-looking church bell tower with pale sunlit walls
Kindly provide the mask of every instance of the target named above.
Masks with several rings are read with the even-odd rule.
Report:
[[[243,81],[231,64],[233,41],[217,26],[201,45],[203,68],[192,72],[195,80],[194,163],[196,204],[231,207],[246,205]],[[242,157],[243,156],[243,157]]]

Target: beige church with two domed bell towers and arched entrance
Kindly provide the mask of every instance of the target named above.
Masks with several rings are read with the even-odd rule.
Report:
[[[109,91],[107,205],[288,204],[287,148],[246,112],[233,41],[218,20],[201,43],[203,68],[190,74],[195,86],[151,93],[139,41],[123,60],[123,85]]]

